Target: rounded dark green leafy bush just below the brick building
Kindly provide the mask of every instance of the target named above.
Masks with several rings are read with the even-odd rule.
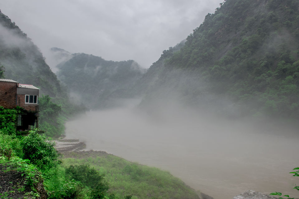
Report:
[[[22,143],[23,157],[41,169],[51,168],[53,161],[57,160],[58,157],[58,152],[54,146],[54,142],[47,140],[45,136],[41,136],[36,130],[33,130],[24,138]]]

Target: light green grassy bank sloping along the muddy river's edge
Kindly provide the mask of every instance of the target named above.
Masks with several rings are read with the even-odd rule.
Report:
[[[114,155],[66,158],[64,167],[71,164],[89,164],[102,174],[109,183],[109,193],[117,198],[132,195],[137,198],[199,198],[194,190],[169,172],[138,163],[132,163]]]

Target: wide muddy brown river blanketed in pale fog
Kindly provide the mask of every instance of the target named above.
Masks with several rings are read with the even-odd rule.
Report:
[[[248,189],[298,197],[299,138],[274,123],[257,125],[190,110],[90,111],[66,123],[66,138],[170,171],[195,190],[232,199]]]

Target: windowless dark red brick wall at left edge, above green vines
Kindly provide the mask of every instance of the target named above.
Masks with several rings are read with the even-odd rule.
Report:
[[[17,95],[17,83],[0,81],[0,106],[6,109],[15,108]]]

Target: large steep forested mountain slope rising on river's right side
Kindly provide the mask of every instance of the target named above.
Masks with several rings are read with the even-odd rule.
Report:
[[[227,0],[165,51],[151,99],[175,97],[233,117],[299,118],[299,2]],[[154,68],[151,66],[149,71]]]

